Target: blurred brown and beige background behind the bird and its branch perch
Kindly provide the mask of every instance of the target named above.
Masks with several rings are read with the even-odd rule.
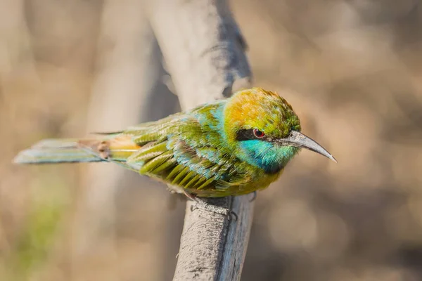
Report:
[[[41,138],[179,110],[140,1],[112,2],[0,1],[0,280],[172,279],[185,203],[163,185],[108,164],[11,164]],[[231,8],[254,84],[338,159],[304,151],[258,193],[242,280],[422,280],[421,1]]]

